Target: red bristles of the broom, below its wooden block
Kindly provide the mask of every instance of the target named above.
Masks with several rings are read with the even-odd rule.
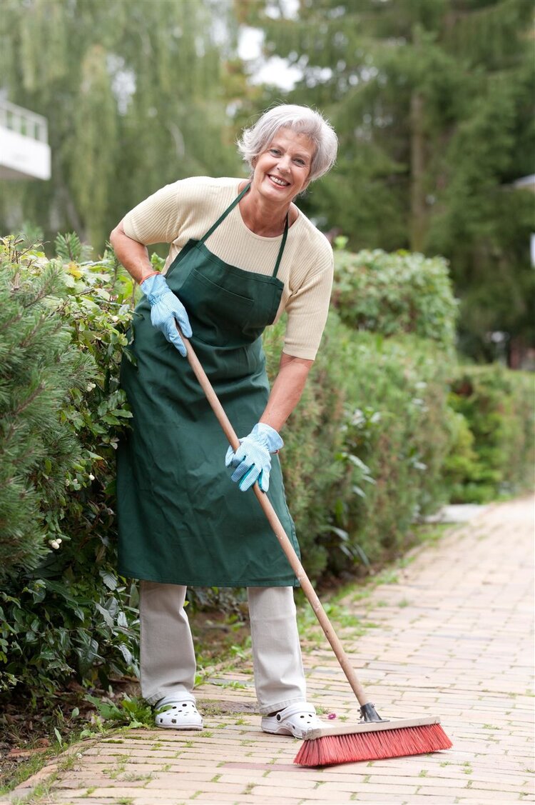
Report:
[[[326,735],[303,741],[294,759],[298,766],[333,766],[364,760],[401,758],[450,749],[451,741],[439,724],[381,729],[368,733]]]

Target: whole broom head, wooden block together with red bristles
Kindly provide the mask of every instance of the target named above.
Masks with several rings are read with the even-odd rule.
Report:
[[[294,758],[298,766],[334,766],[364,760],[401,758],[450,749],[451,741],[435,716],[324,727],[307,733]]]

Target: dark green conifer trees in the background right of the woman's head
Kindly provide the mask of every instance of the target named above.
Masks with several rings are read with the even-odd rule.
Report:
[[[287,99],[340,134],[307,211],[353,250],[446,257],[475,357],[493,330],[533,340],[533,193],[512,184],[533,173],[530,0],[300,0],[293,17],[237,3],[266,54],[301,68]]]

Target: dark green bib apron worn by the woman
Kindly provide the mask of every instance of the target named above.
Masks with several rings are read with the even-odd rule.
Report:
[[[217,258],[200,241],[171,263],[167,284],[185,306],[195,349],[238,436],[265,409],[270,386],[261,333],[272,324],[283,283],[277,279],[288,221],[272,276]],[[241,492],[224,466],[228,442],[187,360],[150,323],[144,298],[134,313],[135,363],[123,357],[121,385],[132,429],[117,451],[119,572],[123,576],[206,587],[298,586],[253,489]],[[298,551],[278,456],[271,503]]]

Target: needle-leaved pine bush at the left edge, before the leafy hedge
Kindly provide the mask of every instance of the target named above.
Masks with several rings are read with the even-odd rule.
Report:
[[[0,266],[0,578],[35,568],[60,538],[56,515],[80,461],[60,408],[87,385],[93,361],[71,345],[51,300],[62,274],[53,264],[29,271],[13,240]]]

